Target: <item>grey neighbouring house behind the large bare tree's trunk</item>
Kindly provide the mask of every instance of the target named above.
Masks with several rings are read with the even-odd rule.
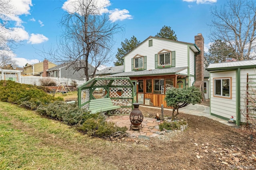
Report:
[[[95,70],[95,67],[89,65],[89,75],[92,74]],[[86,79],[84,69],[76,71],[72,68],[70,64],[60,64],[55,67],[46,70],[49,77],[58,77],[58,78],[70,78],[76,80]]]

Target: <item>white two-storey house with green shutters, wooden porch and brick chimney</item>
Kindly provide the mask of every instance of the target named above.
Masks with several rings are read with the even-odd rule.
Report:
[[[167,107],[165,92],[171,87],[195,85],[203,91],[204,38],[195,43],[148,37],[122,57],[124,72],[111,77],[130,77],[135,85],[136,101],[143,105]]]

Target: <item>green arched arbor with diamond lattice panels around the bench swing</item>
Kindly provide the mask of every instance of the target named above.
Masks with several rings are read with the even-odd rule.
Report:
[[[113,105],[120,109],[110,111],[111,114],[130,114],[134,103],[134,84],[129,77],[95,77],[78,87],[78,106],[88,109],[89,102],[96,99],[93,92],[105,89],[104,98],[110,98]]]

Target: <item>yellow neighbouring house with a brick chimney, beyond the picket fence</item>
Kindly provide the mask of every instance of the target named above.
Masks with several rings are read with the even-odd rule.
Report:
[[[43,77],[46,77],[46,70],[52,67],[55,67],[56,64],[49,62],[47,59],[44,59],[43,62],[28,64],[23,67],[24,75],[40,75],[41,72]]]

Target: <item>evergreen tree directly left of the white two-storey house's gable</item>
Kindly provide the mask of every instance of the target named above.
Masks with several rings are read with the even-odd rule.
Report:
[[[117,61],[114,62],[114,65],[124,65],[124,60],[122,59],[122,57],[139,44],[140,41],[138,41],[137,38],[134,36],[132,36],[130,40],[125,39],[124,42],[121,42],[122,47],[118,48],[118,52],[116,54]]]

